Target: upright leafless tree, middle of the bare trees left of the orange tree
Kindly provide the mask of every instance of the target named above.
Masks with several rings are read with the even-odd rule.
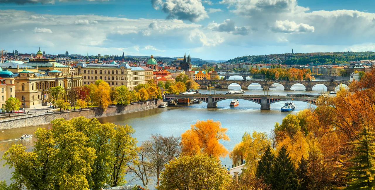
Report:
[[[142,147],[150,159],[151,169],[156,175],[157,186],[159,186],[159,175],[164,169],[164,164],[168,162],[168,157],[163,151],[163,139],[161,135],[151,135],[150,140],[143,141]]]

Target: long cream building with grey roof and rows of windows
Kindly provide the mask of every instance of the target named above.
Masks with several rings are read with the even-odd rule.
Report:
[[[130,67],[126,62],[121,64],[87,64],[78,63],[75,72],[83,75],[83,85],[103,80],[110,86],[125,85],[132,90],[136,85],[145,84],[152,79],[151,68]]]

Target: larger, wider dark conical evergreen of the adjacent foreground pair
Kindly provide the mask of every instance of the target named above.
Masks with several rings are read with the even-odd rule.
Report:
[[[279,150],[271,171],[273,190],[297,190],[299,187],[293,162],[284,146]]]

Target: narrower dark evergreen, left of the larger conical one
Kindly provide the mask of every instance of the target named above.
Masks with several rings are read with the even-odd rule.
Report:
[[[272,176],[270,174],[274,160],[275,155],[273,155],[271,145],[269,144],[261,159],[258,161],[258,168],[255,174],[257,178],[263,178],[266,184],[271,184]]]

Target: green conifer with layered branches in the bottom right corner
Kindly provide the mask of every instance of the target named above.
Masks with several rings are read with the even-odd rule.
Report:
[[[346,189],[372,189],[375,177],[375,144],[374,134],[366,128],[358,135],[359,141],[354,142],[354,156],[348,161],[353,165],[347,169],[349,184]]]

